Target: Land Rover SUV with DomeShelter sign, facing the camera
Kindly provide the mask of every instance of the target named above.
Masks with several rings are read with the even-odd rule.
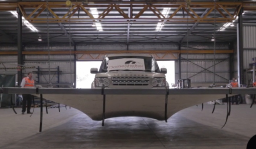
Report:
[[[153,55],[108,54],[100,69],[90,70],[95,75],[91,88],[165,88],[166,68],[157,66]]]

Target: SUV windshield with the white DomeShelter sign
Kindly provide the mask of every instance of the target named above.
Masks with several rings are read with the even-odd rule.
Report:
[[[115,56],[106,57],[101,66],[101,72],[111,71],[146,71],[159,72],[153,57]]]

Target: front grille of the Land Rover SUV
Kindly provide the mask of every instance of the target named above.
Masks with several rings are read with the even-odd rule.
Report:
[[[114,86],[147,86],[148,77],[112,77]]]

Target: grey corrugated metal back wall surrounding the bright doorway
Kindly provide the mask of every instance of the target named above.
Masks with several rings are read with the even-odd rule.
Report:
[[[50,45],[50,50],[52,51],[73,51],[74,47],[70,47],[69,45]],[[129,45],[129,50],[178,50],[178,44],[176,43],[166,43],[166,44],[143,44],[143,43],[134,43]],[[47,46],[42,44],[36,44],[36,45],[27,45],[23,47],[24,51],[47,51]],[[186,44],[184,43],[181,46],[181,49],[186,50]],[[189,49],[190,50],[212,50],[213,49],[213,43],[189,43]],[[228,50],[229,44],[228,43],[217,43],[216,44],[216,50]],[[9,51],[9,50],[17,50],[17,46],[0,46],[0,50],[2,51]],[[120,44],[120,43],[106,43],[106,44],[82,44],[76,46],[77,51],[100,51],[100,50],[127,50],[126,44]],[[186,54],[181,54],[181,57],[186,59]],[[224,60],[223,62],[216,65],[216,74],[220,75],[221,77],[216,76],[216,82],[227,82],[224,78],[229,79],[230,76],[230,68],[229,68],[229,54],[216,54],[216,60],[215,63],[220,62],[221,60]],[[48,71],[48,55],[25,55],[24,57],[24,64],[29,66],[36,66],[40,68],[44,68],[46,71]],[[212,83],[213,81],[213,74],[205,71],[204,69],[200,68],[199,66],[203,68],[208,68],[214,64],[213,61],[213,54],[188,54],[188,59],[191,62],[188,63],[188,76],[191,77],[192,75],[195,75],[191,77],[192,82],[194,83]],[[72,81],[75,80],[75,70],[74,70],[74,56],[71,57],[71,68],[72,71],[70,72],[70,55],[50,55],[50,66],[51,68],[56,68],[57,66],[60,67],[60,71],[62,71],[60,75],[60,83],[70,83],[70,73],[72,75]],[[11,67],[12,64],[17,64],[17,56],[0,56],[0,63],[4,62],[6,63],[6,66]],[[196,66],[199,65],[199,66]],[[12,65],[15,66],[15,65]],[[187,67],[186,67],[186,60],[181,61],[181,77],[186,78],[187,73]],[[2,66],[0,66],[1,68]],[[178,79],[178,61],[175,61],[175,80]],[[37,71],[37,69],[24,69],[23,73],[24,75],[27,72]],[[209,71],[213,72],[213,67],[209,69]],[[201,73],[198,73],[201,72]],[[12,70],[0,70],[0,74],[16,74],[17,69]],[[35,74],[35,79],[36,79]],[[55,75],[56,76],[56,75]],[[53,74],[51,74],[52,83],[55,83],[57,81],[56,77],[53,77]],[[40,83],[47,83],[48,81],[48,74],[40,75]],[[223,77],[223,78],[222,78]]]

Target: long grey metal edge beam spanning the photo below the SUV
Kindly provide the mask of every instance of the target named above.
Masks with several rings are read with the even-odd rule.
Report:
[[[3,94],[36,94],[36,88],[0,88]],[[225,95],[255,94],[256,88],[192,88],[169,89],[169,95]],[[102,89],[39,88],[38,94],[102,95]],[[166,95],[165,88],[158,89],[104,89],[105,95]]]

